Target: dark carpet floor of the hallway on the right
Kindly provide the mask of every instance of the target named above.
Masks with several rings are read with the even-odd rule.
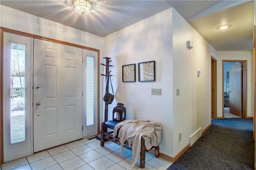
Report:
[[[212,126],[167,170],[254,169],[253,119],[213,119]]]

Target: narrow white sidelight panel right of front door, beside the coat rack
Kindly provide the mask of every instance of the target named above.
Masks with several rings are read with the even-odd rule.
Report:
[[[98,52],[83,49],[83,137],[97,134]]]

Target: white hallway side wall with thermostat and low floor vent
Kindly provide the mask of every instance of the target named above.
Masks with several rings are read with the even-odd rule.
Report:
[[[192,41],[193,49],[186,48]],[[210,123],[211,55],[216,50],[175,10],[173,11],[174,155],[189,143],[189,136]],[[197,71],[201,75],[198,77]],[[176,96],[176,89],[180,95]],[[182,140],[178,141],[178,134]]]

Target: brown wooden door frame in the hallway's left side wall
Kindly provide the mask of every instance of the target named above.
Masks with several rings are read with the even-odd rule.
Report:
[[[211,56],[211,118],[217,119],[217,59]]]

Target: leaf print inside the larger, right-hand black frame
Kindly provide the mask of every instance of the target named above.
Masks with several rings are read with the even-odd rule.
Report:
[[[140,77],[143,81],[154,81],[154,63],[143,63],[140,67]]]

